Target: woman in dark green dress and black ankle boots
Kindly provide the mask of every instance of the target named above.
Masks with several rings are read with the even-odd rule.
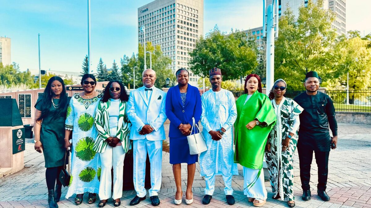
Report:
[[[62,184],[57,178],[66,160],[64,137],[69,101],[62,78],[52,77],[35,104],[35,150],[44,153],[50,208],[58,208],[57,202],[62,194]]]

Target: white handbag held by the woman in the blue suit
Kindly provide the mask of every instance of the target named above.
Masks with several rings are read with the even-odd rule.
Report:
[[[189,153],[191,155],[197,155],[201,152],[204,152],[207,150],[205,139],[200,132],[200,129],[195,124],[194,118],[192,118],[193,124],[191,129],[191,135],[187,136],[188,145],[189,145]],[[194,128],[195,134],[192,134]],[[198,130],[198,133],[196,134],[196,128]]]

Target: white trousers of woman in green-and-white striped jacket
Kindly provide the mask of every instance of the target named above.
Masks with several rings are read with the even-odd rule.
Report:
[[[112,176],[114,168],[113,199],[122,197],[122,175],[124,174],[125,151],[122,146],[111,147],[107,145],[103,153],[99,153],[102,162],[101,181],[99,184],[99,199],[105,200],[111,197]]]

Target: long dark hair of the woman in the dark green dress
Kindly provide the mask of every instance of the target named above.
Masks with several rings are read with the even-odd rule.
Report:
[[[54,92],[51,89],[51,86],[52,86],[52,82],[55,80],[59,81],[62,84],[62,92],[60,93],[60,97],[59,97],[59,104],[58,104],[59,110],[56,111],[56,113],[54,113],[53,117],[54,118],[59,118],[61,116],[63,118],[66,117],[65,113],[62,114],[63,109],[65,109],[66,105],[68,105],[65,83],[62,78],[55,76],[55,77],[50,78],[49,81],[47,81],[47,85],[43,93],[43,105],[42,105],[41,116],[39,117],[39,119],[37,119],[38,121],[42,120],[43,118],[46,117],[46,115],[49,114],[49,109],[52,106],[52,98],[53,98],[52,95],[54,94]]]

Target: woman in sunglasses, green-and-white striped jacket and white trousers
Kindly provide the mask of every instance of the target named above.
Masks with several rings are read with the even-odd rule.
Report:
[[[114,206],[121,204],[122,174],[125,153],[129,149],[131,123],[127,116],[128,95],[120,81],[110,81],[95,111],[95,127],[98,137],[93,150],[99,152],[102,162],[99,184],[99,207],[104,207],[111,197],[111,169],[114,169]]]

